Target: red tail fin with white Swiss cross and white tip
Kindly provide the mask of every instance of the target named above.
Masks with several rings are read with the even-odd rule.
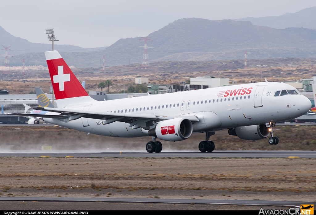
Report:
[[[46,51],[45,56],[58,108],[95,102],[58,51]]]

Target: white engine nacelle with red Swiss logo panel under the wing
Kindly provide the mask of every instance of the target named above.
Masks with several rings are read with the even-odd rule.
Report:
[[[148,131],[148,135],[166,141],[180,141],[188,139],[193,131],[189,119],[175,118],[161,121]]]

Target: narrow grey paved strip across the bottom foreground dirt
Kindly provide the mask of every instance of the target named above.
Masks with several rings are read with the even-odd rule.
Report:
[[[183,204],[224,204],[224,205],[266,205],[295,206],[315,202],[274,201],[274,200],[222,200],[222,199],[145,199],[145,198],[80,198],[80,197],[0,197],[0,201],[105,201],[105,202],[143,202],[143,203],[183,203]]]

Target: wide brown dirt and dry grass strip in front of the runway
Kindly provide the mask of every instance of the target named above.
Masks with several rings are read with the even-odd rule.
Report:
[[[316,201],[315,159],[0,158],[1,196]]]

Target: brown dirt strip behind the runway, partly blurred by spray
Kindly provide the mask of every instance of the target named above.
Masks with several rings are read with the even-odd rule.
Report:
[[[228,130],[216,132],[210,137],[215,150],[316,150],[315,125],[282,125],[274,128],[279,138],[277,145],[270,145],[268,139],[258,141],[242,140],[228,135]],[[162,151],[198,150],[198,143],[205,140],[205,134],[192,134],[184,141],[161,141]],[[119,138],[105,137],[59,126],[0,126],[0,152],[23,150],[34,152],[42,146],[52,146],[52,151],[143,151],[151,137]]]

